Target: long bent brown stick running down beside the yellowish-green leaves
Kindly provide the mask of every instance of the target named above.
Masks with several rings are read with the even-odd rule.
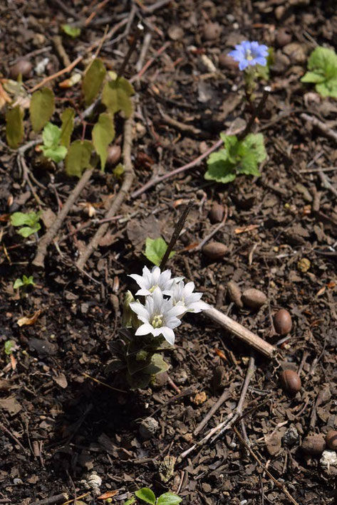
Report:
[[[118,212],[118,209],[122,205],[125,197],[128,195],[130,188],[133,184],[133,179],[135,173],[133,171],[133,164],[131,161],[131,147],[133,143],[133,115],[125,120],[124,124],[124,140],[123,140],[123,164],[125,167],[125,177],[123,184],[118,192],[118,195],[113,199],[111,207],[105,216],[105,219],[111,219]],[[90,255],[93,254],[94,250],[98,248],[101,238],[108,231],[109,223],[104,223],[100,225],[92,240],[88,244],[87,248],[83,252],[83,255],[76,262],[76,267],[83,270],[85,263],[88,261]]]

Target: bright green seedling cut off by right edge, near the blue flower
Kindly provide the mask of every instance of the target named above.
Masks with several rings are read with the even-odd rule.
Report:
[[[322,97],[337,98],[337,54],[334,50],[318,46],[308,60],[308,72],[301,83],[315,84]]]

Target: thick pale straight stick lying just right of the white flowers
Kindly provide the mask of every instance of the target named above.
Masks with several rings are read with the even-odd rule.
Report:
[[[244,328],[242,324],[239,324],[237,321],[234,321],[234,319],[222,314],[222,312],[214,309],[214,307],[204,310],[203,313],[206,314],[209,319],[212,319],[212,321],[215,321],[217,324],[227,329],[234,336],[237,336],[238,339],[244,341],[245,344],[248,344],[256,351],[259,351],[259,353],[264,354],[267,358],[274,358],[278,353],[275,346],[272,346],[263,339],[260,339],[260,337],[255,335],[252,331]]]

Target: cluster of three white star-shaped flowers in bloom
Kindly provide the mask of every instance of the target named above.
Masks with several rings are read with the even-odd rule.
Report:
[[[171,275],[170,270],[160,272],[160,267],[153,267],[151,271],[144,267],[142,275],[130,275],[140,287],[136,295],[145,296],[145,305],[139,301],[132,302],[130,309],[142,322],[135,332],[136,335],[162,335],[173,345],[173,329],[181,324],[182,316],[186,312],[209,309],[209,305],[200,300],[202,293],[193,292],[194,282],[187,282],[185,285],[183,277],[171,279]]]

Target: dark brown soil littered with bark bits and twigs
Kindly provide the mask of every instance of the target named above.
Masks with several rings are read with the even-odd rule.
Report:
[[[38,211],[41,201],[49,216],[38,232],[41,239],[48,219],[50,223],[61,211],[78,179],[66,176],[62,166],[38,164],[34,148],[24,152],[28,175],[23,173],[1,126],[0,503],[32,505],[62,493],[69,500],[85,495],[85,504],[104,503],[88,489],[93,472],[102,479],[100,493],[118,489],[113,503],[120,504],[140,487],[151,487],[157,495],[175,492],[183,504],[193,505],[288,504],[291,499],[299,505],[336,503],[337,466],[324,469],[319,462],[323,448],[308,454],[302,444],[308,435],[324,437],[337,429],[337,150],[331,136],[337,107],[300,82],[316,44],[337,45],[336,3],[103,4],[3,0],[0,5],[0,73],[9,77],[16,59],[26,57],[33,68],[24,81],[27,89],[66,66],[55,46],[62,23],[81,26],[78,38],[61,39],[70,62],[85,55],[79,70],[95,52],[85,51],[102,40],[106,26],[108,31],[117,28],[99,55],[113,70],[120,68],[136,24],[141,21],[145,28],[125,69],[136,90],[132,191],[82,270],[76,261],[120,189],[113,168],[104,174],[94,171],[49,245],[44,267],[36,268],[36,238],[18,235],[9,215]],[[254,131],[264,134],[268,153],[261,177],[215,184],[204,180],[202,161],[133,195],[153,174],[197,159],[234,120],[247,121],[242,73],[226,58],[243,40],[275,50],[271,93],[254,124]],[[37,75],[34,69],[44,58],[48,62]],[[81,87],[58,87],[66,77],[48,83],[58,112],[68,102],[81,106]],[[119,144],[123,122],[120,117]],[[27,121],[23,145],[35,138]],[[176,331],[175,351],[166,355],[170,381],[129,391],[119,376],[105,374],[123,294],[133,287],[128,275],[150,266],[143,255],[145,238],[170,240],[190,198],[195,204],[168,266],[193,280],[206,302],[277,345],[279,355],[254,356],[249,346],[207,317],[192,314]],[[227,252],[212,261],[193,246],[219,226],[209,220],[215,202],[228,214],[212,240],[226,245]],[[22,275],[33,275],[36,282],[26,296],[13,288]],[[261,290],[267,303],[258,311],[237,307],[227,296],[231,280],[242,291]],[[276,334],[272,322],[280,308],[292,318],[286,338]],[[22,317],[37,311],[34,324],[19,326]],[[9,340],[15,346],[6,354]],[[181,457],[234,412],[249,363],[254,374],[235,429],[251,452],[231,428]],[[296,395],[281,387],[284,368],[301,376]],[[195,434],[224,390],[227,399]],[[159,422],[159,429],[144,441],[139,427],[148,416]],[[290,442],[289,433],[294,435]],[[66,501],[61,496],[57,503]]]

